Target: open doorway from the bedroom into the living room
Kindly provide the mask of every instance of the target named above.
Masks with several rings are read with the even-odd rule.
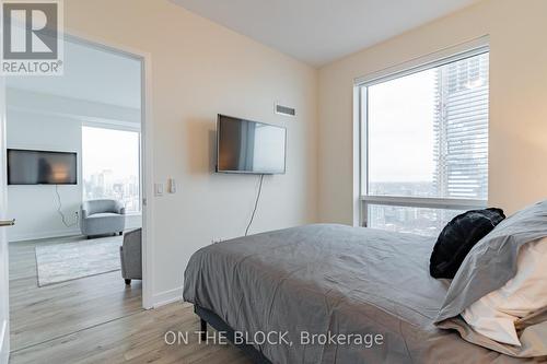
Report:
[[[142,228],[148,277],[143,85],[144,57],[72,36],[65,75],[7,82],[8,150],[75,155],[77,174],[75,184],[8,186],[11,352],[149,308],[147,280],[123,269],[119,251]],[[123,207],[123,235],[84,231],[95,200]]]

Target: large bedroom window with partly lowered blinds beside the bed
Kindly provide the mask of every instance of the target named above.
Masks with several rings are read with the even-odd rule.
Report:
[[[359,86],[364,225],[434,235],[488,198],[487,49]]]

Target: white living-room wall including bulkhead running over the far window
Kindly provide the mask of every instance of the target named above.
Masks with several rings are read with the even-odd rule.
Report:
[[[74,223],[82,202],[82,122],[121,120],[138,126],[140,111],[16,89],[8,89],[7,104],[8,148],[78,153],[78,185],[58,187],[66,220]],[[53,185],[8,186],[9,216],[16,220],[8,230],[9,240],[80,234],[78,226],[62,224],[57,207]],[[128,216],[126,225],[140,226],[141,218]]]

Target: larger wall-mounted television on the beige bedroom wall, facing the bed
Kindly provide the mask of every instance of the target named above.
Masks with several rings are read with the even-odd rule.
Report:
[[[219,115],[217,171],[284,174],[286,138],[286,128]]]

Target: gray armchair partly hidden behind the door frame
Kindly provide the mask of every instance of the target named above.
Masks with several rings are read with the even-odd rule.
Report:
[[[126,284],[131,280],[142,279],[142,228],[127,232],[124,235],[124,245],[119,247],[121,277]]]

